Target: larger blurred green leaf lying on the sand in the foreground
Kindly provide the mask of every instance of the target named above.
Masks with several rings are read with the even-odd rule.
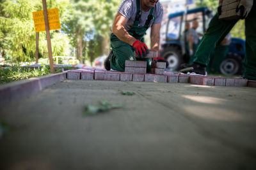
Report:
[[[96,105],[86,105],[84,116],[95,115],[96,113],[108,111],[115,108],[122,108],[122,104],[109,104],[108,101],[101,101]]]

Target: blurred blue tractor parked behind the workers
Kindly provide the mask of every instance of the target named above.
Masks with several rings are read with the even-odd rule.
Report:
[[[169,63],[171,71],[180,69],[180,65],[189,62],[189,52],[186,50],[186,42],[183,36],[186,22],[198,20],[199,27],[196,31],[203,34],[212,18],[208,8],[195,8],[187,11],[172,13],[168,16],[164,44],[161,45],[160,56]],[[225,75],[243,73],[243,58],[245,54],[245,41],[240,38],[232,38],[227,57],[220,64],[220,71]]]

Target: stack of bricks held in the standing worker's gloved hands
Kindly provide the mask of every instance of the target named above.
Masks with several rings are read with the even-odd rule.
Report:
[[[223,0],[221,6],[221,15],[219,16],[219,18],[223,20],[233,20],[240,18],[239,15],[237,15],[236,13],[236,8],[238,4],[239,0]]]

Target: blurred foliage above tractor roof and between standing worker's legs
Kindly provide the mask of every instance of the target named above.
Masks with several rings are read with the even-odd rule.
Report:
[[[196,6],[197,7],[207,6],[210,10],[212,10],[212,11],[214,11],[214,13],[216,13],[217,8],[218,8],[218,2],[219,1],[217,1],[217,0],[196,1]],[[245,39],[244,29],[245,29],[244,20],[239,20],[239,22],[237,22],[237,24],[231,30],[232,37]]]

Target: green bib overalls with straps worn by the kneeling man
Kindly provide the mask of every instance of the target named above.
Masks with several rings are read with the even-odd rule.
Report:
[[[129,34],[134,38],[138,39],[141,42],[144,42],[143,36],[146,34],[148,26],[151,20],[154,20],[154,15],[152,15],[154,8],[150,9],[150,13],[145,22],[144,26],[139,26],[139,20],[141,17],[140,10],[140,0],[137,0],[137,13],[134,24],[131,29],[129,29]],[[113,55],[111,55],[110,66],[111,69],[117,71],[124,71],[125,69],[125,60],[146,60],[147,61],[147,72],[150,72],[152,59],[150,58],[135,58],[134,57],[134,49],[131,45],[125,43],[118,39],[115,34],[111,34],[110,36],[110,45],[113,50]]]

